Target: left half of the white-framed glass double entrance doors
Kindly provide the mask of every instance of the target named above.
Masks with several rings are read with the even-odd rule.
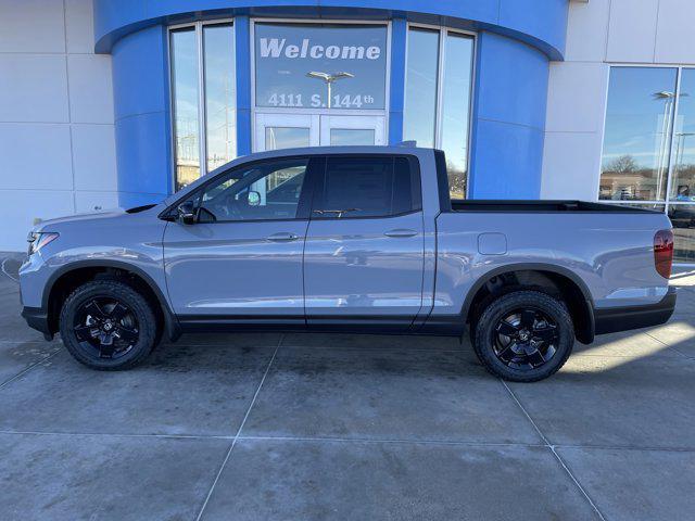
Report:
[[[255,152],[320,144],[320,122],[312,114],[256,114]]]

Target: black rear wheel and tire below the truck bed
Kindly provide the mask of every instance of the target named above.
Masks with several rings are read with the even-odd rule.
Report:
[[[535,382],[565,365],[574,345],[567,307],[539,291],[515,291],[482,312],[473,348],[493,374],[513,382]]]

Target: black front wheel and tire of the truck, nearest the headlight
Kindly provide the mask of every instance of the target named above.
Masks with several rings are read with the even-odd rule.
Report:
[[[94,280],[65,300],[63,343],[91,369],[116,371],[141,364],[156,344],[157,327],[147,298],[125,282]]]

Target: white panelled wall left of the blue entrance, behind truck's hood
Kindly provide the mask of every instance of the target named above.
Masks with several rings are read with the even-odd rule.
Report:
[[[0,0],[0,251],[35,218],[117,206],[111,56],[91,0]]]

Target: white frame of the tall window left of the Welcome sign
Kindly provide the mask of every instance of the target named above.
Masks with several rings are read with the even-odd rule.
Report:
[[[172,33],[180,29],[190,29],[192,28],[195,31],[195,46],[197,46],[197,60],[198,60],[198,136],[199,136],[199,168],[200,168],[200,177],[206,176],[210,174],[207,171],[207,115],[205,113],[205,41],[203,38],[203,27],[206,25],[231,25],[231,37],[235,41],[235,53],[237,49],[237,24],[235,23],[235,18],[215,18],[215,20],[206,20],[199,22],[190,22],[186,24],[176,24],[169,25],[167,27],[166,35],[166,56],[168,61],[168,80],[169,80],[169,136],[170,136],[170,145],[172,145],[172,171],[169,173],[173,183],[172,186],[176,189],[176,100],[174,99],[174,84],[173,84],[173,73],[174,69],[172,65],[174,64],[174,60],[172,59]],[[237,80],[237,56],[233,55],[233,72],[235,72],[235,81]],[[235,114],[237,112],[237,92],[235,86]],[[235,150],[237,150],[237,125],[235,125],[235,135],[232,140],[235,142]]]

